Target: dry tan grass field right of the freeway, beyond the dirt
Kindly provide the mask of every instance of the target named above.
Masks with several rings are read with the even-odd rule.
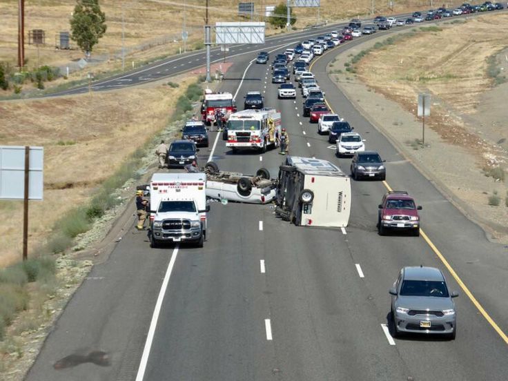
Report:
[[[358,64],[358,75],[413,113],[418,92],[429,92],[433,104],[427,125],[452,144],[478,148],[479,159],[485,160],[482,139],[453,115],[475,113],[478,96],[493,85],[487,58],[505,48],[507,21],[507,15],[496,14],[441,24],[441,31],[420,32],[369,53]]]

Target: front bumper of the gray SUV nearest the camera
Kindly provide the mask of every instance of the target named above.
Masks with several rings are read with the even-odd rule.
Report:
[[[438,317],[395,313],[395,325],[399,332],[449,335],[456,327],[456,315]]]

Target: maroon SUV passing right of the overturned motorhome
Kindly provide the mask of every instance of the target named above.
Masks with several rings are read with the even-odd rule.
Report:
[[[389,230],[411,231],[420,235],[421,206],[416,206],[413,197],[404,190],[392,190],[385,193],[378,205],[378,232],[385,235]]]

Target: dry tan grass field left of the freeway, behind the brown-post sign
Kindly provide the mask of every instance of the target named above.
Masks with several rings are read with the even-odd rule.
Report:
[[[177,97],[195,79],[177,80],[179,88],[152,85],[0,104],[2,144],[44,146],[44,200],[30,202],[32,250],[59,217],[84,204],[95,186],[166,126]],[[9,216],[0,222],[0,266],[5,266],[20,257],[22,204],[0,202],[0,212]]]

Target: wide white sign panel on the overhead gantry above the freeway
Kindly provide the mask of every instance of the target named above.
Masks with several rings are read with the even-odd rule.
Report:
[[[264,43],[264,23],[215,23],[215,43]]]

